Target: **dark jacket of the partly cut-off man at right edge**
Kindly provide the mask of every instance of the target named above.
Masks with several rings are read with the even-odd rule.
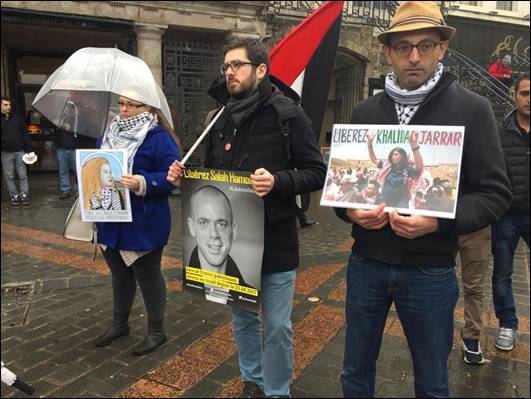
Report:
[[[529,215],[529,133],[518,126],[516,111],[507,115],[498,130],[513,193],[509,212]]]

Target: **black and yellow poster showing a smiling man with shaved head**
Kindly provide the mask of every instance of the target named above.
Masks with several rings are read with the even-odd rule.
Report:
[[[264,207],[250,173],[184,169],[181,198],[186,289],[258,312]]]

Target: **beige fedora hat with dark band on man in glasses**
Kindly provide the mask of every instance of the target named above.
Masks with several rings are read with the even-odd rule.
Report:
[[[434,1],[404,1],[397,8],[391,19],[389,28],[378,35],[378,41],[389,44],[391,34],[397,32],[409,32],[422,29],[437,29],[443,40],[450,40],[455,29],[447,26]]]

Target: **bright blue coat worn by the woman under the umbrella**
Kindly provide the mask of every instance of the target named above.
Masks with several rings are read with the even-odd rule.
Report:
[[[97,148],[100,146],[101,139],[96,144]],[[132,222],[97,223],[100,244],[129,251],[149,251],[167,244],[171,227],[168,197],[175,187],[166,176],[176,159],[179,149],[166,129],[162,126],[151,129],[133,163],[133,174],[146,179],[146,196],[131,192]]]

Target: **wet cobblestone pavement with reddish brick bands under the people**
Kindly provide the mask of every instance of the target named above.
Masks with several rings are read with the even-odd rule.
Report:
[[[59,200],[54,175],[32,175],[32,204],[2,202],[2,360],[40,397],[232,397],[241,388],[230,313],[222,305],[182,292],[182,226],[179,196],[171,198],[173,232],[164,252],[168,285],[168,342],[144,357],[131,354],[144,336],[146,315],[140,294],[131,334],[104,348],[94,338],[109,325],[112,294],[101,257],[92,261],[89,244],[62,237],[73,202]],[[349,226],[330,209],[317,206],[309,216],[319,224],[300,231],[294,322],[295,397],[340,397],[344,345],[345,262]],[[456,269],[460,275],[460,268]],[[520,330],[513,351],[494,347],[497,320],[490,278],[486,278],[483,366],[462,360],[456,309],[450,385],[456,397],[529,397],[529,252],[520,246],[514,273]],[[462,290],[461,290],[462,291]],[[320,298],[317,303],[309,296]],[[429,352],[430,348],[426,348]],[[2,397],[24,394],[2,385]],[[391,310],[378,361],[376,395],[413,397],[413,371],[406,339]]]

